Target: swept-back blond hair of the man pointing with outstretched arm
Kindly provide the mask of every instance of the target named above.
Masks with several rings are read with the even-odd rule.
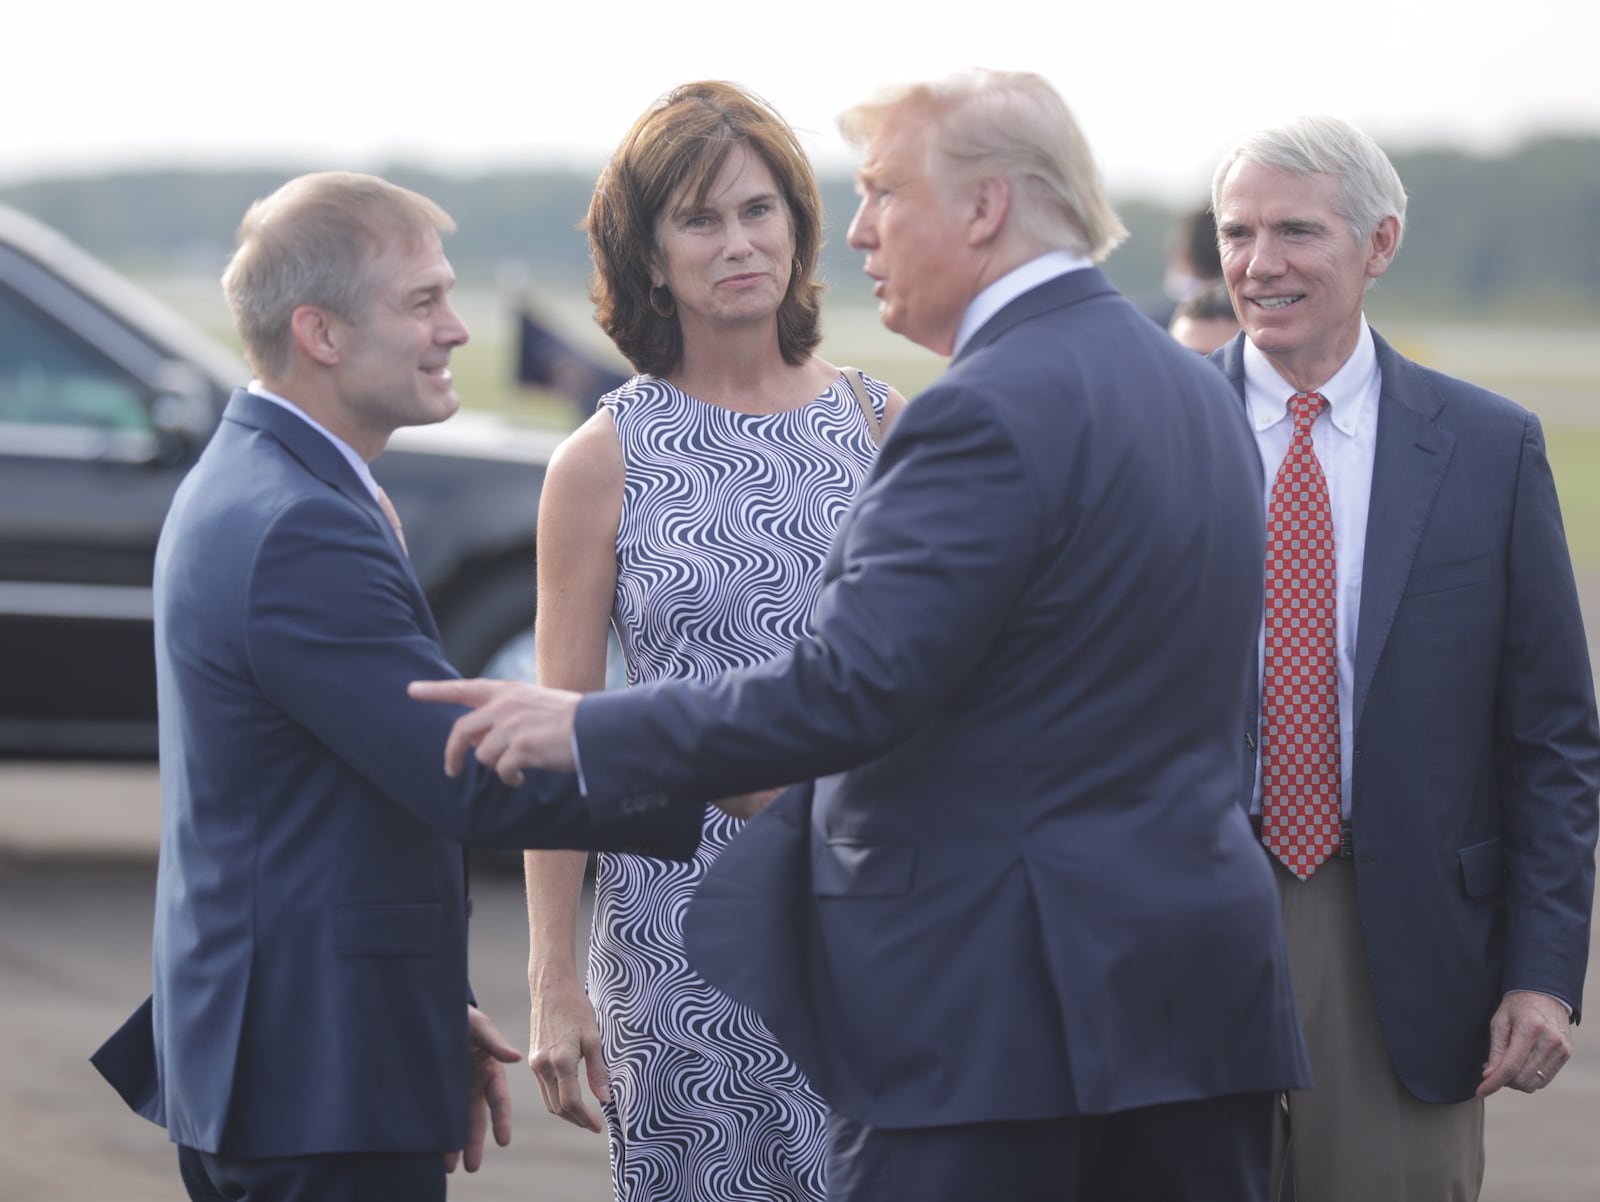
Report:
[[[1010,181],[1018,224],[1040,250],[1072,250],[1098,262],[1128,237],[1088,139],[1043,77],[966,70],[906,83],[846,109],[838,128],[861,149],[906,110],[933,120],[931,144],[942,158],[933,168],[946,182],[952,171]]]

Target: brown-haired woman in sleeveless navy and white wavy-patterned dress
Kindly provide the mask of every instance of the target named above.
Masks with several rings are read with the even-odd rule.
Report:
[[[874,426],[904,403],[813,354],[816,179],[763,101],[690,83],[629,131],[586,229],[597,320],[640,375],[550,461],[539,680],[602,688],[613,623],[629,683],[762,663],[805,634]],[[526,856],[533,1069],[568,1122],[602,1130],[600,1100],[621,1202],[824,1196],[822,1103],[683,957],[683,909],[738,827],[707,808],[693,863],[600,858],[587,996],[584,856]]]

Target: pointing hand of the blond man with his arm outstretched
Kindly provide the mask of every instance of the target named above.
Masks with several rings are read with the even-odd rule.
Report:
[[[456,776],[467,752],[506,784],[522,784],[525,768],[573,770],[573,715],[582,693],[517,680],[413,680],[416,701],[467,706],[445,743],[445,773]]]

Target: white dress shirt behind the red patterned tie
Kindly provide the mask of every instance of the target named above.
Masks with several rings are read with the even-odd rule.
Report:
[[[1366,554],[1366,506],[1373,491],[1373,451],[1378,447],[1378,394],[1382,384],[1373,331],[1362,319],[1355,351],[1333,379],[1314,392],[1328,408],[1310,427],[1312,448],[1328,480],[1333,507],[1334,624],[1339,650],[1339,808],[1350,816],[1350,751],[1355,746],[1355,624],[1362,613],[1362,560]],[[1256,450],[1266,471],[1266,504],[1290,450],[1294,421],[1288,402],[1299,389],[1283,379],[1270,360],[1245,339],[1245,407]],[[1262,616],[1259,663],[1266,663],[1267,626]],[[1259,682],[1258,682],[1259,683]],[[1256,784],[1250,811],[1261,813],[1261,714],[1256,714]]]

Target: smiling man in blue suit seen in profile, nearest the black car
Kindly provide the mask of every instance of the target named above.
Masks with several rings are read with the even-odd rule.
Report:
[[[698,805],[595,823],[571,776],[446,779],[450,714],[405,696],[451,669],[368,464],[459,403],[451,227],[373,176],[302,176],[224,275],[259,378],[157,551],[154,996],[94,1056],[197,1200],[442,1200],[446,1162],[509,1138],[518,1060],[470,1005],[461,843],[698,840]]]

